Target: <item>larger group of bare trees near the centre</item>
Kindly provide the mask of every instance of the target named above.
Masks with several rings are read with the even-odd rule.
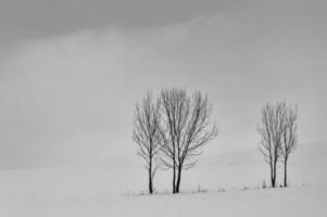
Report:
[[[202,148],[217,136],[211,122],[207,97],[196,91],[189,97],[185,89],[163,89],[158,98],[148,92],[136,105],[134,141],[146,161],[149,193],[159,167],[172,169],[172,191],[179,193],[181,173],[193,167]]]

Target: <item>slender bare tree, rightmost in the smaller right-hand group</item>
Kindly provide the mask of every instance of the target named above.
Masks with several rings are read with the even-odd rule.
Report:
[[[291,106],[285,106],[285,110],[281,155],[284,162],[284,186],[287,187],[287,163],[290,154],[295,150],[298,142],[298,111]]]

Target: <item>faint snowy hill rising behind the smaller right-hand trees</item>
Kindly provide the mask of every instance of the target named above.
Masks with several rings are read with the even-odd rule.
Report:
[[[326,168],[327,142],[299,144],[289,159],[289,182],[297,186],[327,184]],[[207,186],[213,186],[214,181],[225,187],[255,186],[263,179],[267,183],[269,180],[268,165],[255,149],[203,156],[194,169],[199,170],[200,180]],[[281,165],[278,170],[277,179],[281,182]]]

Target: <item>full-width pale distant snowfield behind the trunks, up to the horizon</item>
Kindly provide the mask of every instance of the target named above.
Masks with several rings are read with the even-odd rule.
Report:
[[[137,157],[136,157],[137,158]],[[327,184],[327,142],[300,144],[289,162],[291,186]],[[282,181],[282,167],[278,182]],[[154,184],[159,191],[171,190],[171,170],[159,170]],[[185,170],[181,189],[257,187],[269,183],[269,168],[261,153],[253,150],[203,155],[198,165]],[[0,192],[125,194],[147,190],[147,170],[135,159],[88,167],[54,167],[0,171]]]

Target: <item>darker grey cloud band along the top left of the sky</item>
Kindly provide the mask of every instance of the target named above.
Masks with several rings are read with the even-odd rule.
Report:
[[[113,25],[134,29],[161,27],[187,22],[198,15],[224,12],[232,9],[235,2],[235,0],[8,0],[4,2],[2,0],[0,30],[4,38],[16,39],[106,28]]]

